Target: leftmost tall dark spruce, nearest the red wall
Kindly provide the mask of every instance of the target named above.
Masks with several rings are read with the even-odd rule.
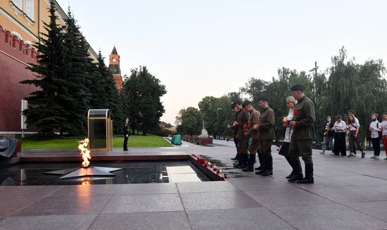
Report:
[[[68,128],[65,117],[70,114],[63,105],[72,100],[71,92],[66,88],[67,76],[63,72],[63,68],[68,65],[64,58],[66,48],[63,45],[63,28],[56,23],[55,11],[51,1],[50,22],[44,23],[47,34],[42,33],[41,42],[35,45],[39,50],[38,65],[27,67],[36,73],[35,78],[20,82],[39,88],[26,98],[30,106],[24,113],[27,115],[27,124],[36,125],[44,134],[63,132],[63,129]]]

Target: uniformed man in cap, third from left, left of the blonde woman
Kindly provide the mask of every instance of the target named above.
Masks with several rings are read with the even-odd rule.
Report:
[[[258,140],[259,151],[258,156],[262,155],[262,168],[255,174],[269,176],[273,174],[273,158],[272,158],[272,143],[274,139],[274,110],[269,107],[269,98],[260,96],[258,98],[258,106],[260,107],[260,119],[258,122]]]

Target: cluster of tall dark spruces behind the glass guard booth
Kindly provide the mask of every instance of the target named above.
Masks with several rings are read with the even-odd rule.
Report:
[[[20,82],[38,87],[26,98],[30,105],[24,111],[27,123],[46,135],[79,136],[86,134],[90,108],[108,108],[117,121],[113,122],[113,132],[122,133],[122,96],[101,53],[98,63],[93,63],[72,13],[68,12],[65,25],[60,26],[55,12],[51,1],[50,22],[44,23],[46,34],[42,33],[42,41],[36,44],[38,64],[28,68],[35,78]]]

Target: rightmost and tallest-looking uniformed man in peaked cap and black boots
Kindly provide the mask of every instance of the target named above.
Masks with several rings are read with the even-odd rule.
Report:
[[[315,139],[315,105],[304,94],[305,87],[302,84],[296,84],[291,87],[293,97],[298,101],[296,108],[293,110],[293,120],[290,125],[293,127],[293,135],[289,155],[295,174],[289,182],[299,184],[313,184],[313,160],[312,160],[312,139]],[[305,162],[305,177],[300,164],[299,155]]]

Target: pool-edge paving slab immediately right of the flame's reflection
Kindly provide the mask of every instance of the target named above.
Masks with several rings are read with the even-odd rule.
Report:
[[[122,184],[115,195],[177,193],[176,184]]]

